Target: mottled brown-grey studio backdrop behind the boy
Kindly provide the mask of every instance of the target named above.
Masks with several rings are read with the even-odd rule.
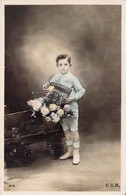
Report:
[[[80,131],[120,137],[121,6],[7,5],[5,7],[5,104],[9,112],[56,72],[55,58],[72,57],[71,71],[85,87]]]

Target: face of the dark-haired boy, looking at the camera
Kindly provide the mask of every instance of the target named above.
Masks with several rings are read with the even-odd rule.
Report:
[[[68,72],[70,64],[67,59],[60,59],[57,63],[57,68],[61,74],[65,74]]]

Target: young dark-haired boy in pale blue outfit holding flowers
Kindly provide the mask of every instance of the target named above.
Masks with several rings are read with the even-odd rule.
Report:
[[[64,130],[67,152],[61,156],[60,160],[65,160],[67,158],[73,157],[73,164],[78,165],[80,162],[80,139],[78,133],[78,104],[79,100],[85,93],[85,89],[81,86],[77,77],[75,77],[70,71],[71,57],[66,54],[61,54],[56,58],[56,66],[59,73],[56,74],[51,80],[51,82],[56,82],[58,84],[64,85],[71,88],[71,93],[68,98],[66,98],[66,103],[71,106],[73,114],[75,117],[64,118],[61,121],[62,128]],[[43,85],[46,88],[49,84],[47,82]]]

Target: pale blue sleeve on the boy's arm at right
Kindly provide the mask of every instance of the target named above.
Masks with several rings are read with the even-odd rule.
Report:
[[[84,95],[85,89],[82,87],[82,85],[80,84],[80,82],[77,79],[77,77],[74,77],[74,79],[73,79],[73,87],[75,89],[74,98],[76,100],[79,100]]]

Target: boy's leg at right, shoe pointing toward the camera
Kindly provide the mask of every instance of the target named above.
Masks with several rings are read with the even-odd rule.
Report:
[[[73,165],[78,165],[80,163],[80,138],[78,130],[72,131],[73,135]]]

